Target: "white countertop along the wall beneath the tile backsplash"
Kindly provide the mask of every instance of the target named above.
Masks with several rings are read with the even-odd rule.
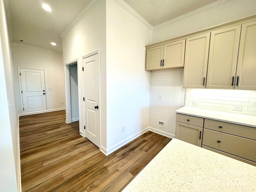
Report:
[[[196,117],[202,117],[206,119],[212,119],[217,121],[223,121],[228,123],[234,123],[238,125],[250,126],[256,128],[256,116],[241,115],[206,109],[198,109],[192,107],[182,107],[175,111],[176,113],[191,115]]]

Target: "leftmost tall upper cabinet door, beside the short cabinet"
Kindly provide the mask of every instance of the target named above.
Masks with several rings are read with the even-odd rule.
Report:
[[[205,88],[210,33],[186,39],[184,88]]]

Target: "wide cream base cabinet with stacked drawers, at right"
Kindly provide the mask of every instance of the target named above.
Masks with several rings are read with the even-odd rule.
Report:
[[[202,148],[256,166],[256,128],[204,119]]]

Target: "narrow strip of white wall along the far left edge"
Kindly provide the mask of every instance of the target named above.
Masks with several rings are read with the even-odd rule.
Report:
[[[0,82],[0,191],[15,192],[18,190],[18,129],[3,0],[0,0]]]

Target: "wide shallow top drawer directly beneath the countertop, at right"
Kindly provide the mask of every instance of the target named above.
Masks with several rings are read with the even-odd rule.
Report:
[[[205,119],[204,128],[256,140],[256,128]]]

